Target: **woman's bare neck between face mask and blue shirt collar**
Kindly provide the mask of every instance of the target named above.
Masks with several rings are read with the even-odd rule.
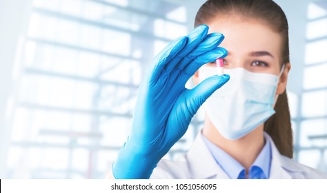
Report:
[[[212,143],[215,143],[221,150],[224,150],[241,165],[249,170],[252,163],[264,148],[264,124],[259,125],[255,130],[237,140],[229,140],[221,136],[218,130],[212,125],[208,116],[204,121],[204,136]]]

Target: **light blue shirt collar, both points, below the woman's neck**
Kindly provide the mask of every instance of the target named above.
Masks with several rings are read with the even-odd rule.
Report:
[[[206,139],[206,137],[201,134],[204,143],[210,150],[212,156],[215,158],[215,161],[221,166],[221,168],[228,174],[230,179],[237,179],[240,174],[244,175],[245,168],[238,161],[236,161],[232,156],[226,153],[224,150],[221,150],[217,145]],[[255,167],[259,167],[269,179],[270,174],[270,161],[271,161],[271,149],[270,149],[270,139],[265,136],[266,143],[264,148],[255,159],[255,162],[250,167],[250,172],[252,169],[255,170]],[[243,172],[242,172],[243,171]]]

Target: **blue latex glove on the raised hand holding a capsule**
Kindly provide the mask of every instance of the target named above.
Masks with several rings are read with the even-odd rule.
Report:
[[[199,26],[155,57],[139,88],[130,136],[112,165],[115,179],[150,178],[199,107],[229,80],[228,75],[216,75],[192,90],[185,88],[201,65],[226,57],[227,51],[217,47],[223,39],[222,34],[208,34],[208,26]]]

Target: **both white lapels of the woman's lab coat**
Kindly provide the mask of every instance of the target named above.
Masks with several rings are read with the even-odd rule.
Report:
[[[276,148],[273,139],[264,132],[266,141],[269,141],[271,147],[271,165],[269,179],[291,179],[290,174],[286,171],[286,165],[282,164],[281,154]],[[201,152],[201,154],[199,154]],[[197,135],[195,141],[186,154],[188,160],[188,168],[192,179],[229,179],[228,175],[217,164],[212,154],[206,147],[201,133]],[[210,167],[208,167],[210,165]],[[288,170],[296,169],[287,167]]]

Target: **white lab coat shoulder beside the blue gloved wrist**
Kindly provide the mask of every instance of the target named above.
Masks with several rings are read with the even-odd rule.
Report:
[[[190,179],[186,155],[180,156],[175,161],[161,159],[150,179]]]

